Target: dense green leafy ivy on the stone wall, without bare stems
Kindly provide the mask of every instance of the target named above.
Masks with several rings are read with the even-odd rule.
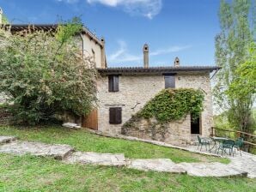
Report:
[[[204,93],[201,90],[168,88],[149,100],[136,116],[146,119],[155,117],[160,123],[180,120],[188,114],[191,114],[192,118],[197,118],[203,111],[203,101]]]

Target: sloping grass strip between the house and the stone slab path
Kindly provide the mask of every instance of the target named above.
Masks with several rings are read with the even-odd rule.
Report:
[[[74,130],[58,126],[38,128],[0,126],[0,135],[15,135],[25,141],[68,144],[75,147],[76,150],[84,152],[125,153],[125,157],[131,159],[168,158],[176,163],[213,161],[229,163],[229,159],[160,147],[139,141],[126,141],[94,135],[84,129]]]

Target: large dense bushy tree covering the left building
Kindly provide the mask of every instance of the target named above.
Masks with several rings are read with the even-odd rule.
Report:
[[[31,26],[33,28],[33,26]],[[70,111],[88,114],[96,102],[93,59],[82,57],[76,34],[78,19],[60,23],[56,32],[0,30],[0,93],[14,103],[21,123],[40,123]]]

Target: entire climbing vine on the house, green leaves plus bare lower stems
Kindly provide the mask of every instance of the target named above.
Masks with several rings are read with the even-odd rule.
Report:
[[[203,111],[203,101],[201,90],[164,89],[123,125],[122,134],[165,141],[169,123],[182,120],[188,114],[192,119],[198,118]]]

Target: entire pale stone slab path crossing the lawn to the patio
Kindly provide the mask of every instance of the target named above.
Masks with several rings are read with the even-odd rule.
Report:
[[[197,149],[191,147],[188,151],[197,151]],[[198,177],[242,176],[256,178],[256,156],[245,152],[242,152],[242,156],[239,153],[235,157],[227,156],[231,160],[229,165],[217,162],[175,164],[170,159],[125,159],[125,155],[120,153],[74,152],[74,148],[69,145],[16,141],[15,137],[0,136],[0,153],[18,155],[29,153],[36,156],[62,159],[67,164],[123,165],[130,169],[142,171],[172,172]],[[206,152],[197,151],[197,153],[205,154]]]

